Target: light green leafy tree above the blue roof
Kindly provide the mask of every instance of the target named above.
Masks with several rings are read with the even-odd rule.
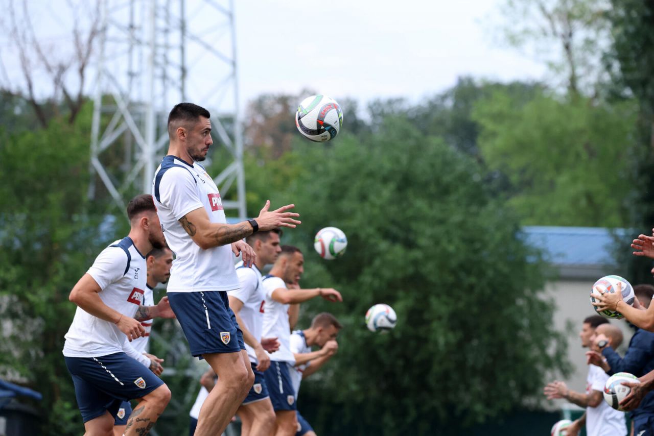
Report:
[[[527,103],[496,92],[480,101],[479,148],[490,169],[508,176],[509,203],[523,224],[607,226],[628,223],[632,101],[596,103],[540,93]]]

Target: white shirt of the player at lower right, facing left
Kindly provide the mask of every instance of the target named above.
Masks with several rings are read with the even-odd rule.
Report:
[[[586,378],[586,394],[600,391],[604,392],[604,384],[609,376],[596,365],[588,365]],[[625,412],[616,411],[604,399],[598,407],[586,408],[586,434],[587,436],[615,436],[626,435]]]

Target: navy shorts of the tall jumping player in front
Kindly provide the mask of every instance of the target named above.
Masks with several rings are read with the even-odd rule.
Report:
[[[227,292],[168,292],[167,295],[192,356],[245,350],[243,332],[230,309]]]

